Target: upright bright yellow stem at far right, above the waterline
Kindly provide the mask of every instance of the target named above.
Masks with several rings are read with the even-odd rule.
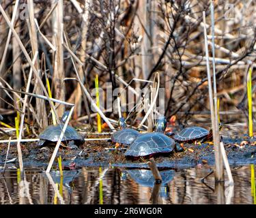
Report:
[[[248,71],[248,80],[247,80],[247,97],[248,97],[248,134],[250,137],[253,137],[253,96],[252,96],[252,67]]]

